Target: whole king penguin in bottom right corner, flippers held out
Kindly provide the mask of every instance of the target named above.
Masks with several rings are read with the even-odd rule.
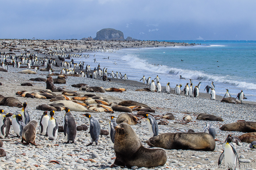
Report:
[[[218,160],[218,165],[221,164],[221,161],[225,157],[225,165],[226,168],[235,170],[236,169],[236,162],[238,160],[238,164],[240,165],[238,155],[236,153],[236,149],[232,144],[232,138],[227,138],[227,143],[225,144],[224,151],[220,154],[220,158]]]

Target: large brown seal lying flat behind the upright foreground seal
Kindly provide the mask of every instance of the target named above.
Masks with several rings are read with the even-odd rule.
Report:
[[[146,141],[149,146],[164,149],[194,149],[214,151],[215,141],[208,133],[162,133]]]

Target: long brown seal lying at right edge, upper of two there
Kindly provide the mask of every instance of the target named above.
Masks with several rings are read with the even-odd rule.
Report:
[[[256,122],[234,122],[220,127],[223,131],[256,132]]]

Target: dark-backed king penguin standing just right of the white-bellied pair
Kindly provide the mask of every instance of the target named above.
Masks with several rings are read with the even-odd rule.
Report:
[[[77,126],[76,126],[75,119],[68,107],[63,107],[63,108],[66,112],[63,119],[64,136],[67,140],[66,143],[69,143],[69,141],[72,141],[71,143],[75,143],[75,138],[77,135]]]

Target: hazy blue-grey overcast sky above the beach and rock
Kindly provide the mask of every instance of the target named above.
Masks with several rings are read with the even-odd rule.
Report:
[[[0,39],[256,40],[256,1],[0,0]]]

